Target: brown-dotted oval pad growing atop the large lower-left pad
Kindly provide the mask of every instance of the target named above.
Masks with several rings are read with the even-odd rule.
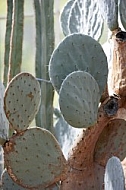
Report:
[[[16,75],[7,86],[4,96],[6,116],[16,131],[26,129],[40,105],[40,86],[30,73]]]

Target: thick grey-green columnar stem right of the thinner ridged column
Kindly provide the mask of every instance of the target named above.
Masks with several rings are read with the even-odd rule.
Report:
[[[36,17],[36,77],[49,80],[48,65],[54,49],[54,0],[34,0]],[[40,82],[41,106],[36,125],[53,132],[53,87]]]

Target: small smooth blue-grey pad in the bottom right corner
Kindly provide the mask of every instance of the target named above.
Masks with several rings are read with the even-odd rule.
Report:
[[[107,162],[104,177],[105,190],[125,190],[124,172],[119,158],[113,156]]]

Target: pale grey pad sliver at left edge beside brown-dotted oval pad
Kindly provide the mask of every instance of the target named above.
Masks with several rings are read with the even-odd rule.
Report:
[[[9,122],[4,112],[4,85],[0,82],[0,144],[7,140],[9,134]]]

